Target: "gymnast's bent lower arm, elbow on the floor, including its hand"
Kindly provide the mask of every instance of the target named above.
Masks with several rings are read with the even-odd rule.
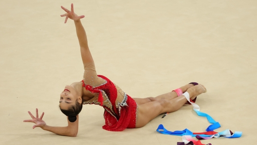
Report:
[[[50,132],[53,132],[55,134],[58,135],[64,135],[64,136],[71,136],[71,137],[76,137],[77,136],[77,132],[78,132],[78,115],[77,115],[77,120],[75,122],[70,122],[68,120],[68,126],[67,127],[51,127],[51,126],[47,126],[46,123],[42,120],[43,116],[44,116],[44,112],[42,113],[42,115],[40,116],[40,118],[38,118],[38,109],[36,109],[36,117],[34,115],[32,115],[32,113],[30,111],[28,111],[32,120],[24,120],[23,122],[32,122],[35,123],[36,125],[34,125],[32,128],[34,129],[35,127],[40,127],[43,130],[47,130]]]

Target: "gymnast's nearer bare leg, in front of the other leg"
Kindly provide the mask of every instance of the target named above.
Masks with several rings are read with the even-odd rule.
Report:
[[[204,86],[201,86],[199,84],[187,90],[191,99],[206,90]],[[144,127],[148,122],[162,113],[177,111],[186,103],[186,101],[187,100],[184,95],[181,95],[180,97],[176,97],[171,100],[160,99],[139,105],[136,128]]]

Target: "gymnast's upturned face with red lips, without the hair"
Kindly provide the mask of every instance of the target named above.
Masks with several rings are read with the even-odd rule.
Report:
[[[78,93],[73,88],[73,86],[65,86],[64,90],[60,95],[60,108],[61,109],[69,109],[71,106],[76,104],[76,100],[78,99]]]

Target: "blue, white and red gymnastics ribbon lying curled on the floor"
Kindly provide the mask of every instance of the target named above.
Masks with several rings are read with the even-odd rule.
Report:
[[[187,99],[187,101],[190,101],[189,96],[185,95],[185,98]],[[212,124],[206,128],[206,132],[193,133],[187,128],[184,130],[176,130],[172,132],[165,129],[165,127],[162,124],[159,125],[156,131],[162,134],[182,136],[183,142],[178,142],[177,145],[204,145],[201,143],[200,140],[208,140],[211,138],[219,138],[219,137],[239,138],[242,136],[242,132],[236,131],[235,133],[233,133],[229,129],[226,129],[221,132],[215,132],[214,130],[220,127],[220,123],[216,122],[210,115],[201,112],[200,107],[197,104],[193,102],[190,102],[190,103],[193,106],[193,110],[197,113],[197,115],[206,117],[208,122]],[[192,137],[196,137],[198,141],[194,140]],[[207,145],[211,145],[211,144],[207,144]]]

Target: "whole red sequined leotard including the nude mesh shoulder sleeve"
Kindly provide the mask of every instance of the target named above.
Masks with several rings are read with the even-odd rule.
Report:
[[[107,77],[97,75],[94,63],[84,64],[83,87],[95,96],[83,104],[100,105],[105,109],[104,129],[122,131],[136,127],[137,104]]]

